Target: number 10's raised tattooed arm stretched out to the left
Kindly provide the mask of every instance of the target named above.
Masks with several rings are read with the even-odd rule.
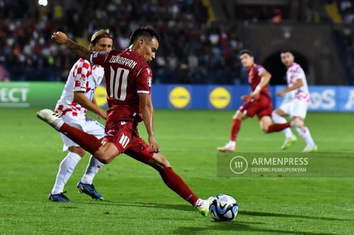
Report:
[[[92,52],[83,45],[77,44],[70,38],[68,38],[63,32],[53,33],[52,39],[57,43],[65,45],[71,52],[80,56],[83,59],[90,60]]]

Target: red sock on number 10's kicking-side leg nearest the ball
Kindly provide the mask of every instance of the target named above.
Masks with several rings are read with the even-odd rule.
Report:
[[[166,185],[174,190],[179,196],[181,196],[184,200],[194,205],[198,197],[192,192],[192,190],[188,187],[186,183],[180,178],[171,167],[165,167],[160,170],[160,175],[162,180],[166,183]]]

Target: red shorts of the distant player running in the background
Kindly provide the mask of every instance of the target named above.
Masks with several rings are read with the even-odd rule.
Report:
[[[271,117],[273,103],[270,96],[261,94],[259,99],[246,101],[238,110],[246,113],[249,117],[257,114],[258,119],[261,119],[263,116]]]

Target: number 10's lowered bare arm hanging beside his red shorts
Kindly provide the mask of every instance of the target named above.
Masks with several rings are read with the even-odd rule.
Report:
[[[151,95],[146,93],[138,93],[138,95],[141,103],[144,124],[148,131],[149,148],[151,148],[150,153],[158,153],[160,150],[153,133],[153,107],[151,103]]]

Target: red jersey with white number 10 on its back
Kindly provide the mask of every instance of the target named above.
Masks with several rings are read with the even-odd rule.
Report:
[[[108,111],[140,113],[138,93],[151,94],[152,71],[141,54],[124,51],[94,52],[90,61],[104,67]],[[134,115],[134,116],[135,116]]]

